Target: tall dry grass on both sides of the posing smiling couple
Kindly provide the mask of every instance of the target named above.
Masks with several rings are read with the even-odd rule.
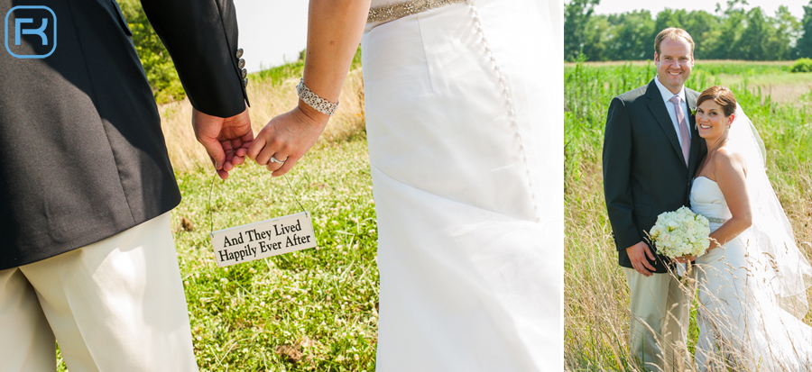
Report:
[[[629,349],[629,290],[605,213],[600,164],[583,163],[580,181],[567,186],[565,213],[565,358],[567,369],[645,370]],[[772,166],[770,173],[780,172]],[[773,186],[795,230],[798,249],[812,259],[812,164]],[[812,298],[812,293],[809,293]],[[687,347],[694,352],[698,329],[692,305]],[[807,324],[812,318],[807,315]],[[724,329],[720,319],[719,328]],[[693,370],[688,366],[688,370]],[[726,369],[722,369],[726,370]],[[747,370],[747,369],[734,369]]]

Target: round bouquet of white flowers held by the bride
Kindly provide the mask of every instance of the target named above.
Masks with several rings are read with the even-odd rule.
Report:
[[[671,259],[687,255],[702,256],[710,246],[707,239],[709,234],[707,218],[685,206],[674,212],[660,213],[649,231],[657,253]]]

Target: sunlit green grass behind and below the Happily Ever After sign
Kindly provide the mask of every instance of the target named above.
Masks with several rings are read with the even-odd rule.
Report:
[[[214,229],[311,212],[318,249],[217,268],[208,240],[208,169],[177,175],[175,235],[203,371],[374,370],[377,234],[366,141],[311,150],[282,177],[243,166],[212,193]]]

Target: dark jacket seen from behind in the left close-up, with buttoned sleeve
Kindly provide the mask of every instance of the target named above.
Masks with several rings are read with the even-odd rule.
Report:
[[[221,117],[243,112],[231,0],[142,3],[191,103]],[[44,59],[15,58],[51,50],[22,35],[0,50],[0,269],[103,240],[180,202],[161,118],[115,1],[0,0],[0,15],[18,5],[52,11],[55,35],[45,32],[56,47]],[[6,32],[27,15],[40,25],[42,12],[21,11]]]

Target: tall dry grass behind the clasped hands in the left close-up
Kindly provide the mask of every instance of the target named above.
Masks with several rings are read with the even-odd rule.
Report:
[[[249,77],[250,79],[251,77]],[[299,77],[288,77],[279,82],[261,80],[247,88],[251,107],[248,110],[254,133],[263,129],[274,116],[290,111],[298,102],[296,85]],[[360,68],[350,71],[339,95],[338,110],[330,118],[327,128],[319,136],[316,146],[342,141],[364,132],[364,79]],[[197,140],[191,126],[189,99],[162,104],[161,129],[167,150],[176,171],[210,167],[208,155]]]

